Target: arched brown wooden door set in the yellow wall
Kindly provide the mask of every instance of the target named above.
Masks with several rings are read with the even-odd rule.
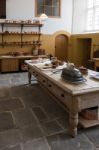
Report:
[[[60,60],[67,60],[68,37],[66,35],[58,35],[55,39],[55,56]]]

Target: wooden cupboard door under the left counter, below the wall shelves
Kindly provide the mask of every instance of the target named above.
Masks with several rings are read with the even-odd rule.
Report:
[[[2,59],[1,72],[18,71],[19,64],[17,59]]]

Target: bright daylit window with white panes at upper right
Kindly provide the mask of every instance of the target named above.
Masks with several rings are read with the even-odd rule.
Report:
[[[99,30],[99,0],[87,0],[86,30]]]

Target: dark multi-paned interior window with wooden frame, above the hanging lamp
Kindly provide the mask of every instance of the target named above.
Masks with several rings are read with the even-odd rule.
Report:
[[[35,0],[36,16],[45,13],[49,17],[60,16],[60,0]]]

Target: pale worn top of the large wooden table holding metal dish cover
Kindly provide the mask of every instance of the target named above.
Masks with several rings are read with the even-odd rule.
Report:
[[[83,83],[70,83],[68,81],[64,81],[61,78],[61,71],[54,73],[55,69],[43,69],[45,66],[44,63],[32,63],[31,61],[25,61],[28,65],[33,67],[38,73],[42,74],[46,78],[48,78],[50,81],[55,83],[57,86],[61,87],[64,91],[67,91],[68,93],[72,95],[81,95],[89,92],[97,92],[99,91],[99,78],[97,79],[92,78],[91,74],[98,74],[98,72],[88,70],[88,75],[83,76],[87,81]],[[63,66],[57,67],[56,69],[62,69],[66,67],[66,64]]]

